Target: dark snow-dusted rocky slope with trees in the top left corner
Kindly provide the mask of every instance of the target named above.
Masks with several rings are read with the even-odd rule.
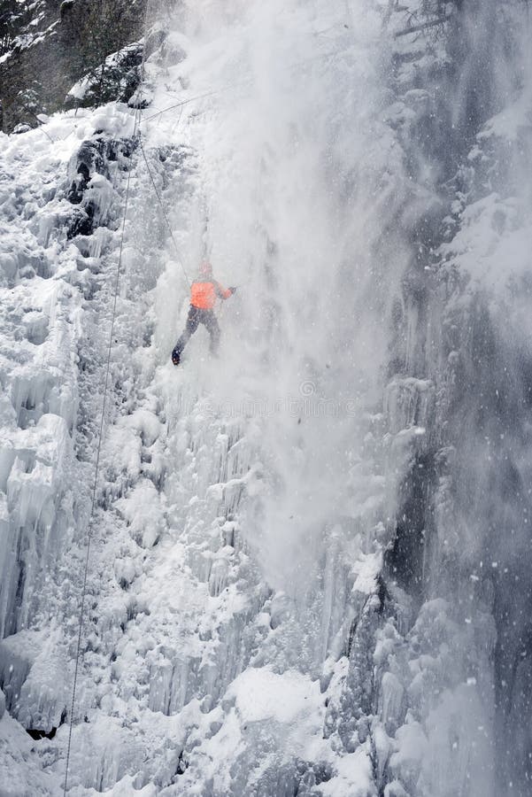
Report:
[[[60,109],[73,83],[105,58],[143,37],[144,0],[8,2],[0,16],[0,103],[5,132],[35,127],[39,114]],[[135,66],[135,65],[131,65]],[[119,85],[120,85],[120,81]],[[101,104],[120,97],[112,74],[97,75]],[[135,87],[131,89],[131,93]]]

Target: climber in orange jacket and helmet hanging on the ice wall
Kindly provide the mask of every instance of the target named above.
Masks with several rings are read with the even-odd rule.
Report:
[[[207,261],[199,267],[199,276],[190,286],[190,309],[187,318],[187,326],[178,342],[173,347],[173,365],[179,365],[181,353],[189,343],[191,335],[194,335],[199,324],[203,324],[211,336],[211,353],[218,352],[220,344],[220,326],[214,315],[214,303],[217,298],[227,299],[235,293],[236,288],[224,288],[220,282],[216,282],[212,277],[212,266]]]

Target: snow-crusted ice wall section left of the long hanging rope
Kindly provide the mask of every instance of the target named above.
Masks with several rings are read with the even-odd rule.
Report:
[[[2,765],[12,772],[3,788],[9,782],[10,794],[58,789],[55,776],[40,782],[35,774],[42,764],[22,729],[34,739],[53,737],[70,700],[95,449],[96,412],[82,375],[91,360],[85,344],[95,316],[104,337],[102,254],[113,241],[112,203],[133,123],[129,113],[110,109],[103,118],[59,116],[47,127],[4,136],[0,178],[0,682],[11,715],[2,730]],[[98,150],[104,151],[99,160],[90,156]],[[101,339],[96,348],[103,360]],[[92,394],[101,375],[92,360]]]

